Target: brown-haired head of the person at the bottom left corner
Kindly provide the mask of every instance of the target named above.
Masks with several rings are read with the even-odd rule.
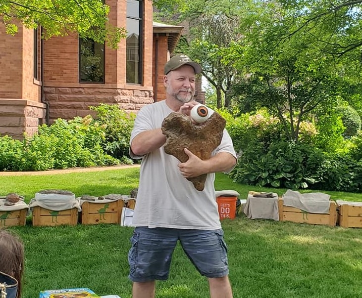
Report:
[[[18,281],[17,298],[21,296],[21,280],[24,270],[23,242],[15,234],[0,230],[0,271]]]

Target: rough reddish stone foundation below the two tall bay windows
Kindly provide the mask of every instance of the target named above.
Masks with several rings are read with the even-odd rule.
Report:
[[[100,103],[117,104],[126,112],[137,112],[146,104],[154,102],[153,91],[120,89],[120,88],[90,88],[90,87],[45,87],[45,100],[49,103],[49,118],[73,119],[84,117],[90,111],[90,106]]]

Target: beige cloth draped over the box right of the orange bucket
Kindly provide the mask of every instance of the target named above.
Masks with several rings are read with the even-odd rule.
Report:
[[[244,213],[250,219],[279,220],[278,194],[273,193],[271,198],[256,198],[248,194]]]

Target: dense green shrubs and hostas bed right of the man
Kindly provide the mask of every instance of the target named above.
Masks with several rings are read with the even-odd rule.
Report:
[[[322,126],[320,141],[319,131],[306,122],[301,125],[300,141],[294,143],[283,138],[280,124],[265,111],[226,119],[239,154],[238,164],[230,173],[235,182],[289,189],[362,191],[361,134],[345,141],[342,132],[337,133],[338,126],[332,127],[336,133],[327,138],[327,128]]]

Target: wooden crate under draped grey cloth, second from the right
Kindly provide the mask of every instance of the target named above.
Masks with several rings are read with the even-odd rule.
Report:
[[[294,207],[283,205],[282,198],[278,199],[279,220],[280,221],[293,221],[309,224],[322,224],[335,226],[337,222],[337,204],[330,201],[328,214],[324,213],[308,213]]]

